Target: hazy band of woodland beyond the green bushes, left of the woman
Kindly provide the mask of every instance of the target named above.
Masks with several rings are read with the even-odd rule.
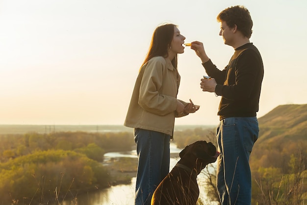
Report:
[[[77,153],[86,154],[89,158],[102,161],[105,152],[130,151],[134,144],[133,136],[129,132],[5,134],[0,135],[0,162],[31,154],[34,151],[47,150],[76,151]]]

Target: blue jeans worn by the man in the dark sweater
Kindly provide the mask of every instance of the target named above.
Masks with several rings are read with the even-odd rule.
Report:
[[[256,117],[230,117],[216,129],[218,151],[216,184],[222,205],[251,205],[249,158],[258,138]]]

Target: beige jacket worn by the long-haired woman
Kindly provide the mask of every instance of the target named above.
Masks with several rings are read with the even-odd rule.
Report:
[[[168,58],[150,59],[136,78],[124,125],[173,136],[175,117],[186,115],[176,112],[179,82],[179,73]]]

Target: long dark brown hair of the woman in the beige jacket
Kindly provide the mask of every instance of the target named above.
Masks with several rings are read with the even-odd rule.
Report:
[[[151,58],[155,56],[168,56],[168,48],[171,45],[171,42],[174,37],[174,24],[164,24],[162,26],[156,27],[153,32],[152,41],[149,47],[147,56],[142,64],[142,66],[147,63]],[[172,64],[175,69],[177,69],[177,55],[172,59]],[[142,68],[141,66],[141,68]]]

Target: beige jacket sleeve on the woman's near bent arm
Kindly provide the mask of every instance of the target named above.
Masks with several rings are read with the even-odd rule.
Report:
[[[163,83],[163,69],[167,68],[162,61],[149,61],[140,85],[139,105],[144,110],[156,115],[169,114],[174,112],[177,107],[176,97],[159,93]]]

